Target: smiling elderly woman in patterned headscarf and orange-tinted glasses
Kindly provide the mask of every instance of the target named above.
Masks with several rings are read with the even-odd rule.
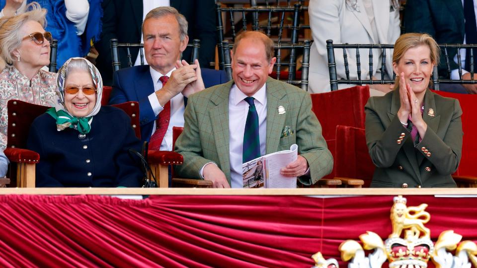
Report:
[[[130,118],[101,107],[103,83],[83,58],[58,71],[55,107],[33,121],[27,148],[40,154],[37,187],[139,187],[142,171],[129,149],[140,151]]]

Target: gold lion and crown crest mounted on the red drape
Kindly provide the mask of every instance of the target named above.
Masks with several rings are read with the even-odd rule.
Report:
[[[431,218],[425,211],[427,204],[407,206],[402,196],[395,197],[393,201],[390,216],[393,232],[386,241],[378,234],[367,231],[359,236],[362,246],[354,240],[341,243],[341,259],[349,262],[348,268],[380,268],[386,261],[390,268],[427,268],[429,260],[434,262],[436,268],[477,267],[477,245],[472,241],[460,243],[462,236],[454,231],[442,232],[434,245],[430,230],[424,226]],[[374,251],[366,256],[365,250]],[[455,256],[449,252],[454,250]],[[325,260],[319,252],[313,255],[313,259],[316,263],[314,268],[331,268],[326,264],[336,262],[334,259]],[[333,265],[333,268],[338,268],[337,262]]]

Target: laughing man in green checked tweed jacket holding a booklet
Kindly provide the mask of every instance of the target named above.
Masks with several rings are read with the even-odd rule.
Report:
[[[273,41],[266,35],[243,32],[231,53],[233,80],[189,97],[184,131],[175,143],[175,151],[184,157],[184,164],[175,167],[179,177],[210,180],[216,188],[242,188],[245,122],[253,105],[260,155],[298,144],[297,160],[282,167],[282,175],[310,185],[331,172],[333,159],[309,93],[268,77],[276,61],[273,53]],[[251,105],[247,97],[253,97]]]

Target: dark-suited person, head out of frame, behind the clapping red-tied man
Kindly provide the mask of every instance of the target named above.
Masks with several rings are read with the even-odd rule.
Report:
[[[199,63],[202,68],[209,68],[215,61],[215,46],[217,44],[217,26],[214,0],[102,0],[103,28],[99,40],[95,40],[94,48],[99,55],[96,59],[98,68],[105,85],[112,84],[113,67],[111,66],[112,38],[118,43],[143,43],[142,24],[145,15],[159,6],[172,6],[189,22],[187,35],[189,39],[199,39]],[[132,62],[139,65],[139,47],[131,47]],[[118,51],[121,66],[127,66],[128,57],[125,49]],[[189,62],[192,48],[182,53],[182,59]]]

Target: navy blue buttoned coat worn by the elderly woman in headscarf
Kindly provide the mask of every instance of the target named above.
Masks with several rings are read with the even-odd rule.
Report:
[[[128,149],[140,151],[141,142],[122,110],[102,106],[83,139],[55,124],[43,114],[30,127],[27,148],[40,154],[36,187],[140,187],[143,173]]]

